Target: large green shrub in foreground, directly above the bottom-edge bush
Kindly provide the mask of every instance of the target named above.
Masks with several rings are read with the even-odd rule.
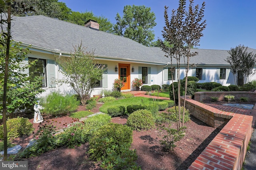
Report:
[[[107,156],[107,149],[113,145],[127,145],[132,143],[132,129],[118,123],[108,123],[99,127],[89,140],[90,159],[100,161]],[[120,154],[120,150],[117,150]]]

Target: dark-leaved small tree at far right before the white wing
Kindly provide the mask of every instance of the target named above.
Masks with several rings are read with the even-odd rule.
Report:
[[[239,82],[238,72],[245,78],[248,78],[251,74],[255,74],[254,66],[256,64],[256,54],[252,52],[248,53],[247,50],[248,47],[244,47],[244,45],[230,48],[230,51],[228,51],[229,56],[225,60],[231,65],[231,72],[234,75],[236,85],[240,83],[244,84],[244,82]]]

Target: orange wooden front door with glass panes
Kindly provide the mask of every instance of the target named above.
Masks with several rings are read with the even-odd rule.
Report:
[[[119,78],[124,81],[124,87],[121,90],[130,89],[130,64],[118,64]]]

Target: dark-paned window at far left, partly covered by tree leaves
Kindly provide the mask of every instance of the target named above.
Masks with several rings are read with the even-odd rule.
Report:
[[[28,62],[32,62],[34,60],[36,61],[36,64],[34,66],[31,66],[29,71],[29,76],[32,77],[30,80],[30,83],[33,82],[35,76],[41,76],[42,78],[42,87],[46,87],[46,60],[44,59],[34,59],[34,58],[28,58]]]

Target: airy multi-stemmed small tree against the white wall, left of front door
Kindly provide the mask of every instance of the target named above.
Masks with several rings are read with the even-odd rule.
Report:
[[[85,105],[96,83],[102,80],[106,68],[94,62],[94,52],[86,52],[82,43],[75,46],[74,51],[68,59],[56,59],[62,67],[60,72],[64,75],[57,82],[69,84],[78,94],[82,105]]]

